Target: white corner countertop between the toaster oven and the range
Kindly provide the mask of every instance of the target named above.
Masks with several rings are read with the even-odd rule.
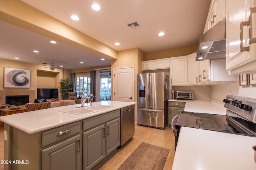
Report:
[[[215,100],[168,100],[168,102],[186,102],[184,111],[226,115],[224,103]]]

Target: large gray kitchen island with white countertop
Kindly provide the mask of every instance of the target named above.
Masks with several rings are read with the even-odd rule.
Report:
[[[4,168],[92,169],[120,146],[120,109],[134,104],[94,102],[112,107],[84,115],[64,113],[80,106],[69,105],[0,117]]]

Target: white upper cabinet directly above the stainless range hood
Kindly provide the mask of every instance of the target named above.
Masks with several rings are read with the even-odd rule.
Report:
[[[204,33],[219,21],[225,20],[225,18],[225,0],[212,0],[204,27]]]

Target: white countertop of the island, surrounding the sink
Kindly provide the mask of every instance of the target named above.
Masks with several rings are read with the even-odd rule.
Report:
[[[118,101],[102,101],[94,102],[92,105],[110,105],[114,106],[109,109],[104,109],[102,111],[96,111],[94,113],[89,113],[85,115],[74,115],[69,113],[59,112],[65,109],[75,109],[78,105],[68,105],[53,107],[50,109],[42,109],[37,111],[28,111],[24,113],[18,113],[13,115],[5,115],[0,117],[0,121],[11,125],[21,131],[28,134],[38,133],[40,131],[48,130],[61,125],[66,125],[75,121],[80,121],[89,117],[100,115],[102,113],[107,113],[122,107],[131,106],[137,104],[135,102],[118,102]]]

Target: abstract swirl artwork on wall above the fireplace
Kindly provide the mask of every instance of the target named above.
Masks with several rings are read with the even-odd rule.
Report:
[[[5,88],[30,88],[30,70],[4,67]]]

